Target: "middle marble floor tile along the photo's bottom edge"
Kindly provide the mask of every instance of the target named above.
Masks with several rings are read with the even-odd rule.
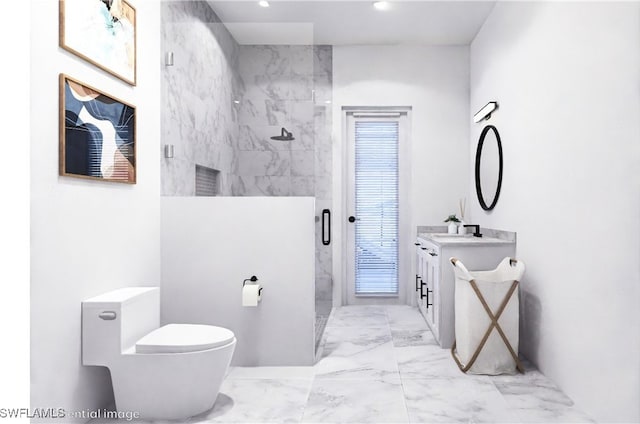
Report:
[[[404,423],[407,411],[398,380],[315,380],[304,423]]]

